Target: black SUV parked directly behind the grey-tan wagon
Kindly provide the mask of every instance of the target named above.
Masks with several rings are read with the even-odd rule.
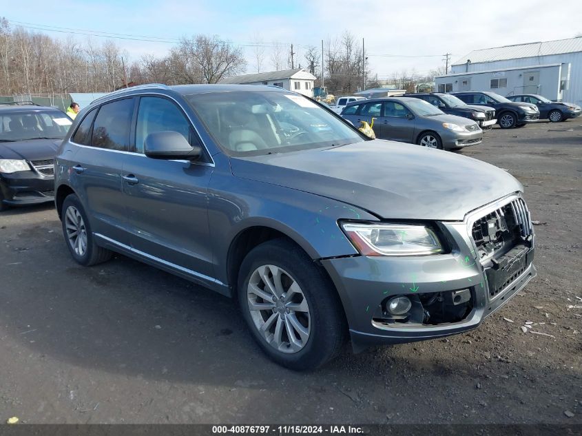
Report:
[[[454,95],[442,92],[425,92],[417,94],[404,94],[404,97],[421,98],[422,100],[438,107],[445,114],[464,116],[479,124],[481,129],[492,127],[497,123],[495,109],[487,106],[468,105]]]

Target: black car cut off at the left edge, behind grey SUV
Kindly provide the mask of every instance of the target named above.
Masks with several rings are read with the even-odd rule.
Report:
[[[54,154],[71,124],[54,107],[0,105],[0,211],[54,200]]]

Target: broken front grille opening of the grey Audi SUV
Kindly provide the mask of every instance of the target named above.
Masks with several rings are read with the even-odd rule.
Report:
[[[531,234],[530,211],[521,198],[516,198],[475,220],[471,229],[479,260],[485,260],[497,251],[513,247]]]

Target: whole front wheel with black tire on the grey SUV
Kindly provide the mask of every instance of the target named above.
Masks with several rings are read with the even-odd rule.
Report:
[[[329,362],[346,340],[337,291],[313,260],[287,239],[264,242],[247,254],[238,273],[238,302],[262,351],[295,371]]]

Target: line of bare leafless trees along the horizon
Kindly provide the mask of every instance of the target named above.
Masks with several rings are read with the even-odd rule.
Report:
[[[256,44],[249,63],[242,48],[217,35],[182,37],[164,56],[149,54],[129,61],[130,56],[112,39],[79,43],[73,37],[61,40],[41,32],[12,27],[0,17],[0,95],[111,92],[141,83],[218,83],[222,78],[247,72],[286,70],[302,66],[330,92],[351,94],[379,85],[368,69],[362,44],[349,32],[328,37],[321,49],[305,48],[303,56],[282,44]],[[294,56],[296,55],[296,56]]]

